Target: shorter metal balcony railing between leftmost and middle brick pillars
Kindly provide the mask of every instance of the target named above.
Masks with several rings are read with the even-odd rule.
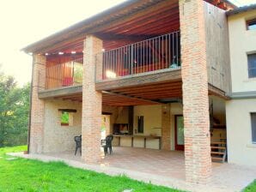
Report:
[[[46,89],[82,85],[83,59],[46,67]]]

